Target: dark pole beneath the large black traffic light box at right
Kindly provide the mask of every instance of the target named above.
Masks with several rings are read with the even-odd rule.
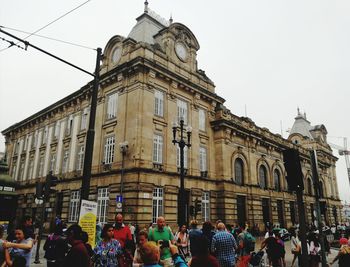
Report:
[[[302,267],[308,266],[308,250],[306,243],[306,220],[305,220],[305,206],[303,200],[303,190],[299,188],[296,191],[297,204],[299,211],[299,227],[300,227],[300,241],[301,241],[301,265]]]

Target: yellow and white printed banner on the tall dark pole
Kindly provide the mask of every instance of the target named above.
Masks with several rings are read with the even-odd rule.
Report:
[[[97,202],[82,200],[80,207],[79,225],[89,235],[88,243],[95,247]]]

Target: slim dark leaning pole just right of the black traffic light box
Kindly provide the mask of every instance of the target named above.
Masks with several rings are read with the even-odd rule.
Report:
[[[319,241],[321,244],[321,258],[322,258],[322,267],[327,267],[326,251],[324,245],[324,237],[322,231],[322,221],[321,221],[321,209],[320,209],[320,182],[318,179],[318,164],[317,164],[317,154],[315,150],[310,151],[311,167],[312,167],[312,178],[314,182],[315,189],[315,209],[317,216],[317,227],[319,231]],[[313,212],[313,211],[312,211]]]

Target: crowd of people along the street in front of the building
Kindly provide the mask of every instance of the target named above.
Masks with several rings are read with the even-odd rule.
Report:
[[[44,251],[48,267],[286,267],[286,247],[280,232],[269,229],[260,247],[256,247],[256,229],[247,225],[231,227],[222,221],[215,225],[196,220],[173,231],[165,218],[158,217],[156,224],[139,229],[126,225],[122,214],[116,214],[114,224],[96,226],[95,244],[78,224],[65,229],[61,220],[55,220],[54,231],[47,236]],[[32,248],[36,242],[31,217],[25,217],[14,231],[2,239],[0,227],[0,266],[30,266]],[[328,242],[325,243],[328,244]],[[350,245],[340,238],[338,255],[329,262],[340,267],[350,266]],[[321,262],[321,245],[317,231],[307,235],[308,266],[318,267]],[[301,266],[301,241],[296,229],[291,230],[292,267]],[[255,252],[257,250],[257,252]],[[329,252],[329,246],[325,246]],[[266,258],[264,258],[266,251]],[[289,267],[289,266],[288,266]]]

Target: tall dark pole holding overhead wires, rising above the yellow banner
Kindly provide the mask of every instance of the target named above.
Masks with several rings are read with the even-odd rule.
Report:
[[[98,86],[100,83],[101,58],[102,58],[102,49],[97,48],[95,79],[94,79],[94,86],[92,88],[92,94],[91,94],[89,129],[86,133],[84,168],[83,168],[83,177],[82,177],[82,185],[81,185],[81,200],[89,199],[91,165],[92,165],[92,156],[93,156],[93,150],[94,150],[94,138],[95,138],[97,94],[98,94]]]

